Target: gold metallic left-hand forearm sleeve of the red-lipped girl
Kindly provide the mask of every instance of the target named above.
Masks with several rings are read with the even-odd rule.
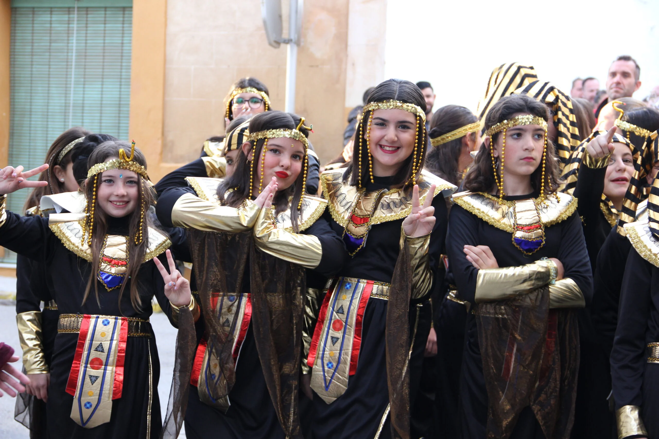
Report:
[[[204,232],[239,233],[254,226],[261,209],[252,201],[246,207],[220,206],[192,194],[177,199],[171,212],[176,227],[196,228]]]

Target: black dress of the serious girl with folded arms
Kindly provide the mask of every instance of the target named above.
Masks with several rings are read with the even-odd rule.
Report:
[[[532,195],[505,197],[507,201],[529,199]],[[567,195],[560,195],[560,198]],[[481,211],[487,211],[496,203],[483,200]],[[565,209],[565,208],[563,208]],[[569,212],[569,211],[568,211]],[[525,255],[511,242],[511,232],[501,230],[474,213],[465,210],[462,205],[454,204],[449,217],[447,234],[447,251],[451,261],[451,272],[457,284],[458,297],[474,305],[478,269],[469,262],[463,251],[465,245],[487,245],[492,250],[499,267],[519,267],[538,261],[542,257],[555,257],[565,269],[564,278],[573,280],[586,303],[592,297],[592,275],[586,245],[581,231],[581,221],[577,213],[565,217],[563,212],[554,215],[559,222],[544,226],[544,245],[532,255]],[[493,302],[499,303],[499,302]],[[558,313],[569,311],[559,310]],[[483,439],[488,425],[488,392],[483,372],[483,358],[479,346],[478,326],[473,312],[467,317],[466,345],[463,354],[463,373],[460,382],[460,407],[462,438]],[[576,340],[575,340],[576,342]],[[574,347],[576,348],[576,347]],[[563,360],[564,361],[564,360]],[[561,367],[563,367],[561,365]],[[572,378],[575,380],[575,377]],[[567,404],[569,405],[569,404]],[[556,426],[565,422],[569,413],[562,413]],[[540,424],[529,406],[513,419],[514,429],[511,438],[544,438]],[[569,433],[569,428],[567,428]],[[494,436],[493,436],[494,437]]]

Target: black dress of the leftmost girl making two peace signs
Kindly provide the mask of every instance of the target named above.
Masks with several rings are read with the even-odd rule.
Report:
[[[76,226],[77,223],[65,224]],[[128,232],[127,221],[111,219],[108,230],[109,234],[125,235]],[[152,297],[156,296],[160,307],[171,319],[171,307],[164,294],[162,276],[151,260],[141,265],[136,279],[140,284],[140,311],[136,311],[130,303],[130,284],[119,302],[119,290],[107,292],[97,280],[98,301],[92,289],[90,297],[82,303],[88,278],[92,273],[90,263],[74,253],[76,242],[79,244],[79,240],[60,239],[55,236],[48,226],[48,219],[41,217],[20,217],[7,212],[7,220],[0,226],[0,245],[45,266],[45,276],[52,282],[49,291],[57,301],[60,313],[147,320],[152,314]],[[164,255],[160,253],[167,248],[168,241],[160,244],[162,245],[152,254],[159,255],[166,264]],[[96,273],[93,275],[96,278]],[[55,336],[47,401],[49,438],[158,438],[161,429],[158,350],[151,326],[142,324],[142,328],[148,333],[127,338],[123,393],[121,398],[112,401],[111,419],[108,423],[94,428],[82,428],[71,419],[74,398],[66,390],[76,354],[78,334],[59,332]]]

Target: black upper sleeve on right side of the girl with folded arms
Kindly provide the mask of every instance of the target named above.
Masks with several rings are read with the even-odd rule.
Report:
[[[561,245],[557,259],[563,264],[565,270],[563,277],[570,278],[577,283],[588,306],[592,301],[592,271],[581,228],[581,219],[575,212],[559,226],[561,226]]]

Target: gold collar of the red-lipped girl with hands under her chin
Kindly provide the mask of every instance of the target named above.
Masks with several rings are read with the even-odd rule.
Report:
[[[222,182],[219,178],[208,178],[208,177],[186,177],[186,180],[190,187],[194,189],[197,196],[206,201],[212,203],[219,203],[219,198],[217,197],[217,186]],[[300,214],[300,223],[299,230],[306,230],[309,228],[316,220],[318,220],[325,208],[327,207],[327,201],[318,198],[311,197],[309,195],[302,196],[302,211]],[[291,211],[286,209],[285,211],[279,213],[275,218],[275,225],[277,228],[281,228],[287,232],[293,232],[293,222],[291,222]]]

